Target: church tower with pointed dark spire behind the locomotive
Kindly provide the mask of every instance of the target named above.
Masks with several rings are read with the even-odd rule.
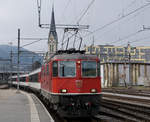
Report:
[[[52,8],[51,26],[48,37],[48,57],[57,51],[58,48],[57,46],[58,46],[58,37],[55,25],[54,8]]]

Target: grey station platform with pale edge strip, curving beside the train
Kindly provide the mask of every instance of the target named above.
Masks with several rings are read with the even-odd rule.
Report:
[[[43,104],[32,94],[0,89],[0,122],[54,122]]]

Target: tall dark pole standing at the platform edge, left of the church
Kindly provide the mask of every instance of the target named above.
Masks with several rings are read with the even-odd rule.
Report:
[[[17,64],[17,77],[18,77],[18,82],[17,82],[17,91],[19,92],[19,83],[20,83],[20,79],[19,79],[19,56],[20,56],[20,29],[18,29],[18,64]]]

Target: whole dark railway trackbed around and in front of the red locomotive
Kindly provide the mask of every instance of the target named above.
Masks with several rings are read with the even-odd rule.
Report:
[[[39,96],[39,99],[42,99]],[[115,97],[104,95],[101,101],[101,109],[99,115],[91,118],[62,118],[55,111],[49,109],[50,106],[42,101],[48,112],[54,119],[54,122],[149,122],[150,121],[150,105],[146,105],[144,100],[136,102],[127,97]],[[140,103],[139,103],[140,102]],[[147,99],[146,102],[149,102]]]

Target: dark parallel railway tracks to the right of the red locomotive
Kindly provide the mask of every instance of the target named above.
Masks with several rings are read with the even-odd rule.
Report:
[[[137,99],[136,99],[137,98]],[[113,116],[124,121],[149,122],[150,121],[150,105],[146,104],[149,99],[142,97],[123,97],[104,95],[101,103],[101,114]],[[147,97],[145,97],[147,98]]]

